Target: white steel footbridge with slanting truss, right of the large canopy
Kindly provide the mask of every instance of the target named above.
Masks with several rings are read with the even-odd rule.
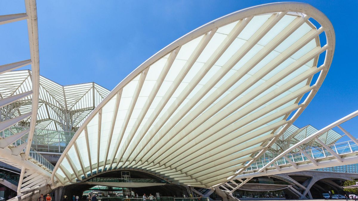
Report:
[[[358,116],[358,111],[355,111],[306,137],[271,161],[256,161],[251,164],[251,166],[248,166],[246,170],[242,171],[240,175],[234,177],[234,179],[276,175],[357,163],[358,140],[340,126],[340,124],[356,116]],[[334,127],[341,129],[351,141],[327,145],[319,139],[321,134]],[[316,141],[321,147],[314,147],[306,150],[301,148],[302,145],[309,141]],[[291,153],[295,149],[298,149],[299,152]]]

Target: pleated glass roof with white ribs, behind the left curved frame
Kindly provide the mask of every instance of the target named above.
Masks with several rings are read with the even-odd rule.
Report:
[[[30,70],[6,72],[0,75],[0,97],[23,97],[32,90]],[[36,128],[57,131],[76,131],[88,114],[103,100],[109,90],[96,83],[83,83],[62,86],[43,76],[39,78],[39,106]],[[1,120],[21,116],[31,112],[30,96],[14,100],[2,107]],[[19,122],[19,126],[29,127],[30,118]]]

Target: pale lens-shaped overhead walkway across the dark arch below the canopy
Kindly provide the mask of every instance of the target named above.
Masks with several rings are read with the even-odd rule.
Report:
[[[89,180],[86,180],[84,183],[90,185],[127,187],[127,188],[163,186],[167,184],[165,180],[158,180],[158,179],[104,178],[104,177],[93,177],[90,178]]]

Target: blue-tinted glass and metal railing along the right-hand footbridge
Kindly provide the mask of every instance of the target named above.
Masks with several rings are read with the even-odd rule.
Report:
[[[341,143],[337,143],[337,144],[328,145],[328,147],[331,148],[338,155],[345,155],[345,154],[349,154],[349,153],[358,152],[358,145],[355,144],[352,140],[347,141],[347,142],[341,142]],[[316,147],[316,148],[306,150],[304,152],[306,152],[310,157],[312,157],[315,160],[320,160],[320,159],[324,159],[324,158],[328,158],[328,157],[334,157],[324,147]],[[285,157],[289,158],[294,163],[310,161],[302,152],[290,153],[290,154],[285,155]],[[277,166],[290,165],[290,162],[287,161],[285,157],[281,157],[279,160],[275,161],[267,168],[275,167],[274,164],[276,164]],[[272,160],[270,160],[270,159],[256,161],[256,162],[252,163],[250,167],[246,168],[246,170],[243,172],[260,170],[262,167],[266,166],[271,161]]]

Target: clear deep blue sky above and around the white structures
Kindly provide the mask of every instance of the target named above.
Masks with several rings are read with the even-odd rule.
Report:
[[[38,0],[40,74],[62,85],[96,82],[113,89],[151,55],[198,26],[270,2],[276,1]],[[325,13],[336,34],[328,76],[295,122],[320,129],[358,109],[358,1],[301,2]],[[1,0],[0,15],[22,13],[23,4]],[[0,26],[1,65],[29,55],[25,21],[11,24]],[[344,126],[356,134],[357,123],[358,117]]]

